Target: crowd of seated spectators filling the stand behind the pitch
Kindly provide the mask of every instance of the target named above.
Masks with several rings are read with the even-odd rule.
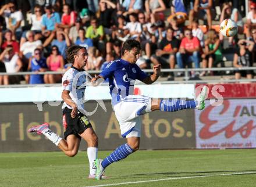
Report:
[[[86,70],[102,70],[120,57],[122,42],[128,38],[141,42],[143,50],[137,61],[141,69],[158,63],[170,69],[223,66],[227,49],[234,53],[234,67],[250,67],[255,53],[256,2],[249,1],[248,6],[246,16],[245,2],[236,0],[1,1],[0,72],[64,72],[70,67],[65,49],[73,44],[86,46]],[[219,24],[227,18],[236,21],[242,39],[237,35],[225,39],[219,34]],[[236,71],[235,77],[252,78],[253,73]],[[214,72],[191,72],[191,77],[204,75]],[[183,74],[166,76],[173,80]],[[0,84],[19,84],[21,78],[2,75]],[[24,80],[56,83],[61,74],[26,75]]]

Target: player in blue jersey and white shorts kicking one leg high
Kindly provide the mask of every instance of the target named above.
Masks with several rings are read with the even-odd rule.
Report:
[[[122,57],[106,66],[106,69],[91,81],[97,85],[99,78],[109,78],[112,106],[116,118],[119,121],[120,130],[127,143],[119,146],[104,160],[97,159],[96,179],[101,179],[105,168],[109,164],[125,159],[129,154],[138,150],[140,145],[141,119],[140,115],[154,110],[175,112],[182,109],[204,109],[204,100],[207,88],[203,87],[200,94],[194,100],[182,99],[154,99],[148,96],[133,95],[134,82],[140,80],[145,84],[155,82],[160,73],[161,66],[153,67],[154,74],[147,75],[135,63],[141,50],[140,43],[134,39],[127,40],[122,46]]]

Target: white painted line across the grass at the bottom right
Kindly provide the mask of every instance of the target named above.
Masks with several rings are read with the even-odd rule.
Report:
[[[223,176],[223,175],[243,175],[243,174],[256,174],[256,172],[255,171],[251,171],[251,172],[233,172],[233,173],[230,173],[230,174],[198,175],[198,176],[191,176],[191,177],[163,178],[163,179],[155,179],[155,180],[148,180],[148,181],[122,182],[122,183],[96,185],[96,186],[85,186],[85,187],[118,186],[118,185],[127,185],[127,184],[138,184],[138,183],[143,183],[143,182],[170,181],[170,180],[186,179],[186,178],[218,177],[218,176]]]

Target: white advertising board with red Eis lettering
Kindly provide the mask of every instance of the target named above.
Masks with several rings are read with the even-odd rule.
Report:
[[[205,103],[195,111],[198,149],[256,148],[256,99],[226,99]]]

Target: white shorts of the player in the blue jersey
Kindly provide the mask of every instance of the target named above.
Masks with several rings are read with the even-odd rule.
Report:
[[[140,115],[151,112],[151,98],[142,95],[129,95],[114,107],[123,138],[140,137]]]

